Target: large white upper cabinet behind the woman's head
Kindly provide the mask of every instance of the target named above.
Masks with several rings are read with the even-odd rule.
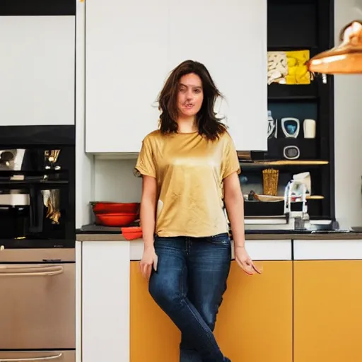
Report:
[[[186,59],[209,69],[240,151],[267,149],[267,0],[87,0],[86,151],[138,152]]]

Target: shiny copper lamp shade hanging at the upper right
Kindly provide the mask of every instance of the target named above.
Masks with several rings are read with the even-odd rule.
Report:
[[[362,22],[346,25],[340,40],[337,47],[310,59],[308,70],[321,74],[362,74]]]

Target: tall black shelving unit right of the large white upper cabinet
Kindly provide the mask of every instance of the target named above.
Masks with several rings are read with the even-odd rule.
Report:
[[[268,1],[268,50],[310,51],[310,57],[334,46],[334,4],[333,0],[269,0]],[[325,160],[321,165],[278,165],[279,173],[292,175],[310,170],[312,192],[324,198],[313,200],[312,216],[334,218],[334,83],[333,77],[322,78],[316,74],[309,85],[268,86],[269,110],[275,119],[296,117],[315,119],[316,138],[270,139],[266,159],[276,159],[272,150],[280,143],[293,144],[310,151],[315,148],[314,160]],[[274,111],[274,112],[273,112]],[[311,151],[310,151],[311,152]],[[275,153],[275,152],[274,152]],[[302,153],[302,152],[301,152]],[[308,152],[307,152],[308,153]],[[304,152],[301,159],[310,159],[311,153]],[[248,168],[249,169],[249,168]],[[312,205],[310,205],[312,206]]]

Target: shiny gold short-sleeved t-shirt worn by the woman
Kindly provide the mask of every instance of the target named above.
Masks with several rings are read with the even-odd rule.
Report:
[[[148,134],[136,175],[157,180],[156,234],[204,237],[228,232],[223,179],[235,172],[240,173],[240,164],[228,132],[216,141],[198,132]]]

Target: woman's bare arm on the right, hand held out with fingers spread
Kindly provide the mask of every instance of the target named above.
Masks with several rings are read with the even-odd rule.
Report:
[[[238,173],[232,173],[223,180],[224,202],[233,233],[235,260],[247,274],[260,274],[245,250],[244,199]]]

